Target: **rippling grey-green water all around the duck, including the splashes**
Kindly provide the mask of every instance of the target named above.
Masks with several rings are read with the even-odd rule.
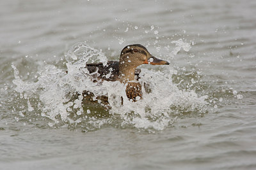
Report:
[[[255,9],[253,0],[1,1],[1,169],[255,169]],[[77,71],[68,57],[84,41],[88,57],[118,60],[141,43],[171,64],[141,66],[155,86],[140,103],[106,117],[77,112],[62,103],[72,90],[58,86],[87,85],[64,74]]]

